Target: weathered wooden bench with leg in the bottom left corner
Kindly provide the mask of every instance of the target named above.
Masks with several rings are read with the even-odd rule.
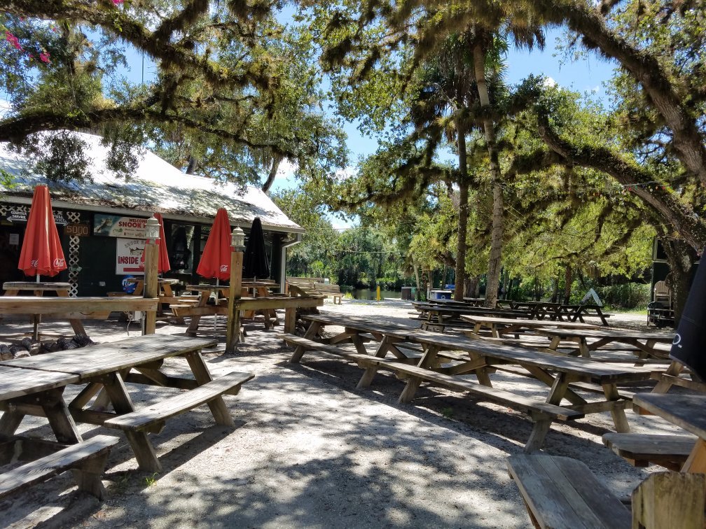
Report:
[[[21,443],[22,441],[14,442]],[[47,481],[66,470],[73,470],[78,490],[103,499],[105,490],[101,482],[101,475],[105,470],[110,450],[118,442],[117,437],[97,435],[78,444],[66,446],[54,454],[8,470],[8,472],[0,474],[0,498]]]

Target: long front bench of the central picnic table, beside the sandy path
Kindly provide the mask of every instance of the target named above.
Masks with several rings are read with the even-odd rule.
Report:
[[[484,386],[483,384],[479,384],[477,382],[472,382],[453,375],[446,375],[441,372],[425,369],[424,367],[409,365],[407,363],[402,363],[399,360],[377,358],[372,355],[354,353],[352,351],[349,352],[335,346],[319,343],[302,338],[301,336],[294,336],[292,334],[285,334],[282,338],[290,345],[297,346],[297,349],[294,353],[292,353],[292,358],[289,360],[292,363],[298,363],[305,351],[322,351],[324,353],[345,356],[345,358],[357,362],[359,367],[363,367],[364,369],[373,367],[375,369],[382,368],[392,370],[398,375],[405,375],[408,378],[416,377],[424,382],[431,382],[431,384],[445,387],[451,391],[457,391],[460,393],[467,392],[479,397],[480,399],[493,401],[502,404],[503,406],[508,406],[509,408],[526,413],[530,416],[532,422],[534,422],[532,434],[530,434],[530,439],[525,445],[525,451],[528,452],[539,450],[542,447],[544,444],[544,438],[549,432],[549,427],[551,427],[552,420],[575,420],[584,417],[584,414],[578,411],[562,408],[561,406],[537,401],[535,399],[530,399],[525,396],[511,393],[510,391]],[[450,358],[452,360],[457,359],[453,353],[449,353],[448,351],[444,351],[444,353],[445,358]],[[361,387],[360,383],[359,387]],[[400,396],[400,402],[405,402],[403,396]]]

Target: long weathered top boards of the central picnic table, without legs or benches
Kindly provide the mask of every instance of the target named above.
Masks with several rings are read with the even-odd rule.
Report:
[[[439,346],[450,351],[465,351],[477,353],[487,358],[501,360],[507,363],[529,365],[546,370],[554,370],[591,379],[598,384],[612,382],[631,382],[650,378],[649,367],[632,367],[598,362],[590,358],[574,358],[550,355],[534,349],[507,346],[499,343],[489,343],[484,340],[469,340],[460,336],[441,334],[421,329],[410,329],[396,324],[376,324],[362,318],[332,317],[314,314],[303,316],[304,320],[320,322],[329,325],[340,325],[360,332],[373,332],[392,336],[397,339],[412,341],[429,346]]]

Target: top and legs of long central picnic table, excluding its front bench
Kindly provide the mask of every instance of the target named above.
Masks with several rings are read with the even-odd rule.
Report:
[[[314,339],[318,331],[326,325],[342,326],[344,331],[329,339],[328,344],[337,345],[349,341],[362,355],[368,354],[364,340],[372,337],[379,343],[374,353],[375,358],[384,359],[390,353],[397,363],[403,365],[417,365],[425,370],[447,375],[473,374],[479,384],[489,388],[492,387],[489,368],[500,366],[505,369],[507,365],[518,366],[521,368],[520,374],[537,378],[549,387],[544,402],[582,414],[610,411],[618,432],[630,431],[624,412],[628,400],[618,391],[618,384],[650,378],[650,369],[644,367],[610,365],[584,358],[548,355],[528,348],[468,340],[394,324],[376,324],[360,318],[306,315],[304,320],[311,322],[305,339]],[[421,358],[409,355],[409,350],[405,348],[407,345],[421,346]],[[297,355],[301,358],[305,350],[304,346],[297,348],[292,355],[293,360],[298,361]],[[460,357],[449,357],[446,351],[461,351],[463,354]],[[359,358],[361,357],[357,357]],[[447,365],[449,360],[452,360],[453,365]],[[367,387],[378,367],[380,366],[369,365],[358,387]],[[421,380],[421,377],[409,377],[400,396],[401,402],[409,402],[414,397]],[[574,391],[577,388],[597,394],[602,392],[604,398],[588,402]],[[568,405],[562,404],[564,400],[568,401]],[[520,396],[517,396],[517,402],[521,401]],[[544,431],[539,429],[533,432],[528,446],[541,446],[550,424],[551,421],[544,424]]]

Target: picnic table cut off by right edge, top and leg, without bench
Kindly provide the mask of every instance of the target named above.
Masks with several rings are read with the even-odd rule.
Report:
[[[681,468],[706,473],[706,395],[637,393],[635,411],[648,411],[696,435],[698,439]]]

